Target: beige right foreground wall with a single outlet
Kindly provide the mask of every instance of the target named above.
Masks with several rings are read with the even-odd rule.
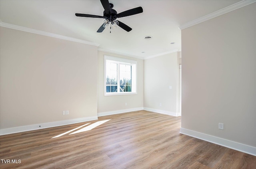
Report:
[[[182,128],[256,147],[255,44],[256,3],[182,30]]]

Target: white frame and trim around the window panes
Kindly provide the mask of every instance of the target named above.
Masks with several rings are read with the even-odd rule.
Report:
[[[117,70],[117,92],[106,92],[106,60],[114,61],[118,64]],[[119,64],[130,64],[132,66],[132,91],[120,92],[120,76],[119,76]],[[135,72],[134,72],[135,71]],[[137,61],[124,58],[116,58],[113,56],[104,55],[104,95],[131,95],[137,94]]]

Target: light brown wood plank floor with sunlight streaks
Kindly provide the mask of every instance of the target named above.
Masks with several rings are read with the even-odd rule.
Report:
[[[256,169],[256,157],[180,134],[181,117],[134,111],[90,131],[77,123],[0,136],[1,169]],[[96,121],[90,121],[94,123]],[[20,159],[21,163],[18,163]]]

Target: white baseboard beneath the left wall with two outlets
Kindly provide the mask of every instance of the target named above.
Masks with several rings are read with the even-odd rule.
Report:
[[[25,125],[25,126],[20,126],[20,127],[0,129],[0,135],[20,133],[20,132],[23,132],[23,131],[32,131],[32,130],[38,130],[38,129],[45,129],[45,128],[49,128],[49,127],[69,125],[69,124],[81,123],[81,122],[92,121],[92,120],[97,120],[97,119],[98,119],[97,116],[93,116],[93,117],[84,117],[84,118],[78,118],[78,119],[54,121],[54,122],[50,122],[50,123],[40,123],[40,124],[34,124],[34,125]]]

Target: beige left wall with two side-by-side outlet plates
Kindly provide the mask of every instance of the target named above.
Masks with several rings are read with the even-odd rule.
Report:
[[[0,129],[97,117],[96,46],[0,29]]]

